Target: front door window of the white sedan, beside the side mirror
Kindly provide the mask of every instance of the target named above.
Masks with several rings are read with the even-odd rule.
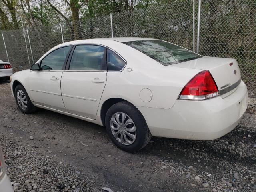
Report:
[[[48,54],[41,62],[41,70],[62,70],[71,46],[62,47]]]

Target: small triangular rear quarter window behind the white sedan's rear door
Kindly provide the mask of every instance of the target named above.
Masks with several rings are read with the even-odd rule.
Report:
[[[125,66],[125,61],[115,52],[108,49],[108,71],[120,71]]]

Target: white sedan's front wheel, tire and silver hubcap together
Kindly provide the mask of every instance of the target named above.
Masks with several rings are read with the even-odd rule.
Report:
[[[17,85],[14,90],[14,96],[16,100],[16,104],[22,113],[29,114],[35,112],[37,107],[35,107],[29,96],[26,92],[25,88],[22,85]]]

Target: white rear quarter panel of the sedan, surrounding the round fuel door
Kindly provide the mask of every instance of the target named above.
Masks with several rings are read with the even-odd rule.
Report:
[[[101,104],[108,98],[122,98],[135,106],[172,108],[182,88],[201,70],[163,66],[152,58],[125,44],[110,47],[120,54],[127,64],[122,72],[108,72]],[[126,69],[132,68],[131,72]],[[152,100],[143,102],[140,91],[148,88]]]

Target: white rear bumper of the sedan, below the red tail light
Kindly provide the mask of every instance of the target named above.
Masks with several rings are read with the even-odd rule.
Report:
[[[247,87],[204,101],[176,100],[170,109],[138,107],[153,136],[213,140],[233,130],[246,111]]]

